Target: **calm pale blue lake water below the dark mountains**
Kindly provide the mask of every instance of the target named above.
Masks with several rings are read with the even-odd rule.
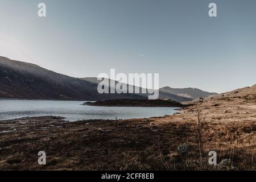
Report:
[[[178,107],[98,107],[86,101],[0,100],[0,121],[54,115],[68,121],[82,119],[131,119],[172,115]]]

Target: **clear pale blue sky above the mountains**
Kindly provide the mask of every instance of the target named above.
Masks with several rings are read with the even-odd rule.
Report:
[[[159,73],[160,86],[174,88],[251,86],[255,32],[255,0],[0,0],[0,55],[74,77],[115,68]]]

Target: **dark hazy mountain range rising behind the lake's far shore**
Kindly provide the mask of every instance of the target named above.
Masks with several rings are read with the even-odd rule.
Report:
[[[146,99],[148,96],[148,94],[99,94],[98,82],[100,81],[95,77],[70,77],[35,64],[0,56],[0,98],[104,101],[120,98]],[[191,88],[159,89],[159,99],[167,98],[178,102],[213,94]]]

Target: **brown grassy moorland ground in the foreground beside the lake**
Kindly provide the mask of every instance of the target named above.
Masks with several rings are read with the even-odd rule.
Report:
[[[57,117],[0,122],[1,170],[255,170],[256,99],[203,102],[203,164],[196,140],[196,106],[147,119],[67,122]],[[187,144],[185,155],[177,146]],[[208,152],[217,152],[210,166]],[[38,152],[47,164],[39,166]]]

